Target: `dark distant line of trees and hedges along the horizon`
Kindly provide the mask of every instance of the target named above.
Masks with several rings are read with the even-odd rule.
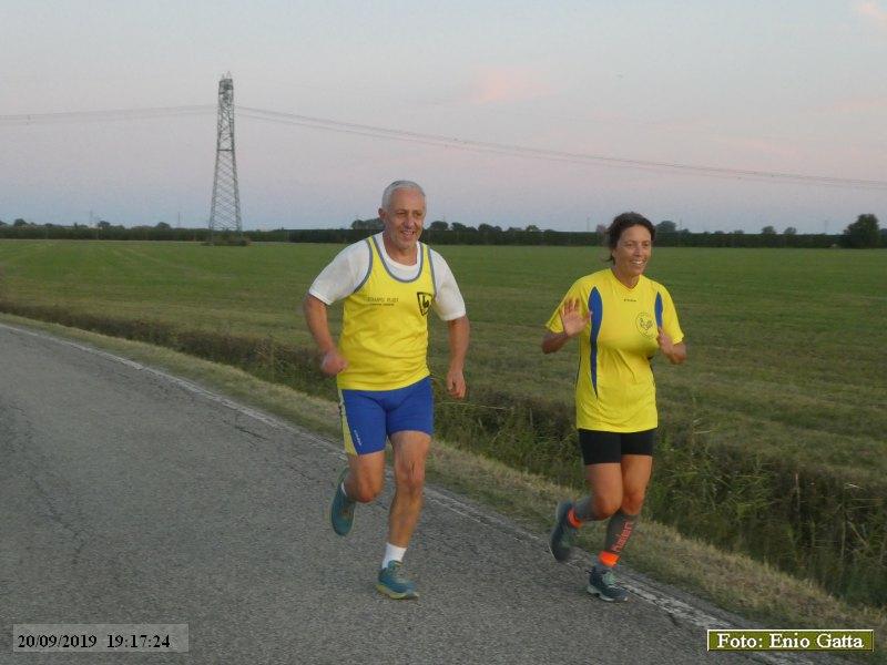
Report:
[[[354,243],[383,228],[381,219],[355,219],[350,228],[312,228],[275,231],[245,231],[249,242],[276,243]],[[435,245],[602,245],[606,227],[598,225],[594,232],[563,232],[540,229],[536,224],[526,228],[480,224],[475,228],[459,222],[436,219],[428,224],[422,239]],[[173,228],[165,222],[154,226],[125,227],[100,221],[95,226],[74,224],[34,224],[14,219],[11,224],[0,221],[0,238],[47,238],[89,241],[192,241],[206,242],[207,228]],[[761,233],[715,231],[691,233],[677,229],[674,222],[656,224],[656,245],[664,247],[887,247],[887,228],[880,228],[875,215],[859,215],[843,234],[799,234],[793,226],[778,233],[772,225]]]

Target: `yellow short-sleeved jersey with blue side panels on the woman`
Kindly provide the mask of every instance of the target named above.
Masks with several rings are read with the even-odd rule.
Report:
[[[669,291],[641,275],[634,288],[611,269],[578,279],[547,327],[562,332],[560,310],[578,299],[591,320],[580,334],[575,381],[578,429],[639,432],[657,426],[656,386],[650,361],[659,350],[657,327],[674,344],[684,339]]]

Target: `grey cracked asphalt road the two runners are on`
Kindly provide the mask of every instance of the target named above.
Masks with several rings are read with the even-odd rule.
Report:
[[[735,617],[630,572],[631,600],[603,603],[588,562],[557,564],[543,533],[436,488],[406,559],[422,597],[390,601],[374,589],[390,490],[336,536],[343,459],[163,372],[0,325],[0,663],[752,662],[705,651],[704,627]],[[187,624],[188,652],[13,652],[26,623]]]

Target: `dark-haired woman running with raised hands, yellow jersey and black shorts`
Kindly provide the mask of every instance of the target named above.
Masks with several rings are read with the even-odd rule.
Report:
[[[579,336],[575,424],[588,495],[562,501],[549,546],[570,555],[583,522],[609,520],[603,550],[590,571],[588,592],[624,601],[613,566],[629,541],[653,468],[656,350],[673,364],[686,360],[684,334],[664,286],[644,277],[655,227],[638,213],[619,215],[606,229],[612,265],[578,279],[547,324],[542,351],[553,354]]]

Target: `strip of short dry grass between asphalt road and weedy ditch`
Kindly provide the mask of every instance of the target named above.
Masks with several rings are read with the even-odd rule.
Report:
[[[0,321],[44,330],[157,367],[224,392],[318,433],[337,439],[334,401],[264,381],[246,371],[152,345],[106,337],[57,324],[0,315]],[[573,490],[544,478],[437,440],[428,462],[430,481],[487,504],[526,529],[544,533],[554,503]],[[582,533],[580,545],[594,552],[602,530]],[[887,663],[878,635],[887,634],[887,613],[850,605],[810,582],[797,580],[748,556],[731,554],[674,529],[645,520],[624,556],[628,565],[674,584],[716,605],[767,626],[792,628],[874,628],[875,654],[860,659]]]

